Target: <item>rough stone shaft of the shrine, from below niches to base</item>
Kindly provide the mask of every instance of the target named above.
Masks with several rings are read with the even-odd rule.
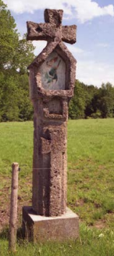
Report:
[[[66,211],[66,122],[62,122],[62,118],[59,121],[59,114],[49,114],[48,104],[36,104],[38,106],[34,106],[34,109],[37,108],[38,116],[34,114],[33,207],[38,215],[62,215]],[[44,113],[42,120],[45,108],[51,117],[45,117]]]

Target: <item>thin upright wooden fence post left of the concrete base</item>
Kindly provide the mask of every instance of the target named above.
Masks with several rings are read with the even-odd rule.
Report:
[[[12,187],[9,217],[9,250],[16,251],[16,221],[19,164],[12,164]]]

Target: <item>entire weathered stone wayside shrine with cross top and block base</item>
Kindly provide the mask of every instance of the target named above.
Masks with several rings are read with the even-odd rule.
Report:
[[[78,236],[78,216],[66,208],[68,104],[76,60],[62,42],[75,43],[77,27],[62,27],[62,13],[45,9],[45,23],[27,22],[27,40],[47,41],[28,67],[34,105],[33,197],[32,207],[23,207],[23,228],[26,223],[30,240],[41,240],[40,233],[43,240]]]

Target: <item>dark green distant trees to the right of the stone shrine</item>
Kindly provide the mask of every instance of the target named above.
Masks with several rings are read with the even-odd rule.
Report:
[[[76,81],[74,96],[69,103],[69,118],[89,117],[114,117],[114,87],[110,83],[97,88]]]

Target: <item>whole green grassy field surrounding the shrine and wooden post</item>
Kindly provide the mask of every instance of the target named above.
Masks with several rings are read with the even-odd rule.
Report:
[[[68,206],[80,217],[80,237],[68,243],[27,244],[16,255],[114,256],[114,119],[68,122]],[[21,209],[31,205],[33,122],[0,124],[0,255],[8,251],[11,164],[20,164]]]

